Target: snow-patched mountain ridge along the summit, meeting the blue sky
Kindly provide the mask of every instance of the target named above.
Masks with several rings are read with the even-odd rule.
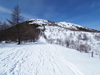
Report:
[[[56,25],[63,27],[65,29],[69,30],[74,30],[74,31],[87,31],[87,32],[100,32],[99,30],[96,29],[91,29],[91,28],[86,28],[78,24],[74,23],[69,23],[69,22],[54,22],[54,21],[49,21],[49,20],[44,20],[44,19],[30,19],[28,20],[30,23],[29,24],[39,24],[39,25]]]

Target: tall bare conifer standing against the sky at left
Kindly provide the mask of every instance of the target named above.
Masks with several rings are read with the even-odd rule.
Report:
[[[14,10],[12,11],[12,14],[11,14],[11,20],[7,19],[7,21],[11,25],[16,26],[17,34],[18,34],[18,44],[20,44],[21,42],[20,42],[20,26],[19,26],[19,23],[23,21],[23,16],[21,15],[19,5],[16,5],[14,7]]]

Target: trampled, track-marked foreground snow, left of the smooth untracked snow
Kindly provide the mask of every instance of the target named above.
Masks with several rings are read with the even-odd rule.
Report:
[[[53,45],[25,45],[0,50],[0,75],[84,75]]]

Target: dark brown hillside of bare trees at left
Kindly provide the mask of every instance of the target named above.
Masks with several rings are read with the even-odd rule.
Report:
[[[19,27],[19,36],[18,36],[18,27]],[[40,29],[39,25],[29,24],[28,21],[19,23],[17,25],[11,26],[8,29],[0,31],[0,42],[6,41],[17,42],[20,38],[21,42],[35,42],[39,38]]]

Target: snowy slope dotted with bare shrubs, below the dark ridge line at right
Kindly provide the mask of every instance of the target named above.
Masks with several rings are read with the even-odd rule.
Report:
[[[77,50],[81,50],[80,46],[84,45],[88,52],[93,50],[94,53],[100,55],[100,33],[71,31],[57,26],[46,26],[45,28],[46,40],[51,44],[58,44]]]

